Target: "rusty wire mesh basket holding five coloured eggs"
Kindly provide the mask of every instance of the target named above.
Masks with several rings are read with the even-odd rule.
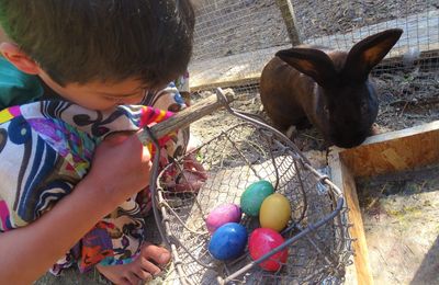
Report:
[[[172,252],[168,282],[177,284],[339,284],[350,263],[351,239],[347,208],[339,189],[316,171],[283,134],[226,104],[240,123],[188,153],[195,156],[207,172],[200,189],[176,192],[166,181],[167,171],[182,170],[187,157],[155,169],[151,183],[155,215],[164,240]],[[156,159],[159,153],[156,153]],[[157,163],[155,163],[157,164]],[[181,171],[182,180],[185,176]],[[211,235],[205,218],[225,203],[239,205],[244,190],[267,180],[291,204],[291,219],[281,235],[285,242],[259,260],[248,250],[232,261],[215,260],[207,247]],[[258,218],[240,221],[250,233],[260,227]],[[288,248],[288,260],[278,272],[258,264]]]

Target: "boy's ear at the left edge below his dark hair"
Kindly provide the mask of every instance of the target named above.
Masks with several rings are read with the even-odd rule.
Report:
[[[1,43],[0,53],[8,59],[16,69],[29,73],[38,75],[41,72],[40,66],[23,53],[15,44]]]

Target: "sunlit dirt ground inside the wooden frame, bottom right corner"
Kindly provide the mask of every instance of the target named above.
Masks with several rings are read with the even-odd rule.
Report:
[[[439,167],[357,186],[375,284],[439,284]]]

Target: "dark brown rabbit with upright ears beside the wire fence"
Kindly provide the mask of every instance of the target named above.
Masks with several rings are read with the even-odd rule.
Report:
[[[356,44],[349,53],[295,47],[280,50],[263,68],[263,109],[280,130],[309,122],[328,142],[350,148],[370,134],[378,98],[369,73],[399,39],[392,29]]]

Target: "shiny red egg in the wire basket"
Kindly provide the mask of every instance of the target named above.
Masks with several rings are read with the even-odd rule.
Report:
[[[258,260],[271,250],[282,244],[285,240],[275,230],[269,228],[258,228],[250,235],[248,250],[252,260]],[[286,262],[288,249],[284,249],[266,261],[259,263],[266,271],[278,271]]]

